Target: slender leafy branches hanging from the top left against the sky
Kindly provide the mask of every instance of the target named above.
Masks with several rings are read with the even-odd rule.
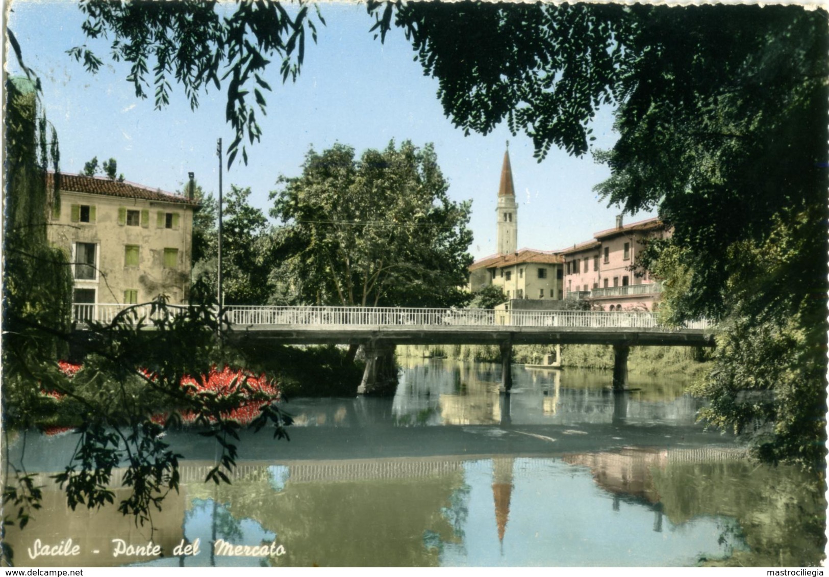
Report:
[[[228,166],[240,150],[246,163],[245,140],[252,144],[261,137],[256,114],[264,115],[264,91],[271,89],[264,79],[269,59],[279,60],[283,82],[296,79],[306,26],[317,40],[317,25],[303,3],[293,15],[280,2],[237,2],[227,16],[221,15],[219,2],[201,0],[82,0],[79,7],[86,15],[85,35],[111,39],[110,57],[130,65],[127,79],[138,98],[153,90],[156,108],[169,103],[171,81],[182,84],[191,108],[198,106],[202,90],[211,84],[221,90],[225,84],[225,119],[235,132],[227,148]],[[325,23],[318,11],[316,16]],[[90,72],[104,64],[86,45],[68,51]]]

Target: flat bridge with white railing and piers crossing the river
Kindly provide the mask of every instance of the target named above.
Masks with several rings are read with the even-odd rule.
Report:
[[[109,323],[120,313],[136,319],[175,314],[152,305],[74,304],[80,328],[90,321]],[[647,311],[490,310],[366,306],[225,306],[221,318],[233,339],[267,339],[283,344],[361,344],[366,349],[366,376],[377,371],[396,344],[497,344],[504,366],[503,386],[511,387],[513,344],[611,344],[615,352],[614,387],[628,381],[632,345],[713,346],[707,320],[682,327],[660,325]],[[372,373],[370,375],[369,373]]]

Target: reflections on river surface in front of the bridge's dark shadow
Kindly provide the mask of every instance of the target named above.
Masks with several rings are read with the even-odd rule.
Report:
[[[695,468],[708,474],[689,479]],[[35,538],[73,536],[85,551],[68,563],[31,565],[694,565],[770,539],[793,555],[785,531],[803,530],[788,502],[802,489],[779,470],[763,469],[754,481],[733,450],[638,449],[564,459],[243,464],[233,484],[216,487],[201,483],[206,466],[185,466],[182,491],[153,520],[161,559],[112,557],[111,539],[146,542],[148,529],[111,509],[62,510],[54,490],[46,515],[12,531],[9,543],[25,557]],[[769,480],[789,493],[762,490]],[[274,542],[286,552],[211,555],[217,539]],[[172,555],[173,546],[196,540],[199,555]]]

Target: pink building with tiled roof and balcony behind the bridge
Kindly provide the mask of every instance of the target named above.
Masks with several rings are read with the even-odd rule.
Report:
[[[565,298],[589,298],[602,310],[655,310],[662,285],[634,265],[643,241],[670,234],[659,219],[622,224],[559,253],[565,257]]]

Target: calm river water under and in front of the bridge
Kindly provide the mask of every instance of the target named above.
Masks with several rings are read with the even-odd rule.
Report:
[[[154,532],[113,507],[71,512],[46,485],[44,509],[7,536],[17,564],[822,560],[814,536],[825,517],[820,484],[797,469],[758,467],[730,437],[696,426],[698,401],[683,395],[686,383],[676,377],[634,376],[638,390],[620,396],[606,390],[607,372],[516,366],[506,396],[498,392],[499,365],[402,363],[393,399],[289,402],[297,421],[291,441],[246,436],[231,485],[203,483],[215,446],[198,435],[169,435],[191,459],[180,492],[153,516]],[[27,468],[48,483],[75,442],[74,435],[27,435]],[[18,437],[12,458],[21,445]],[[37,539],[68,538],[78,555],[28,555]],[[162,555],[148,554],[151,539]],[[198,552],[173,555],[182,542],[197,543]],[[143,550],[114,556],[121,543]]]

